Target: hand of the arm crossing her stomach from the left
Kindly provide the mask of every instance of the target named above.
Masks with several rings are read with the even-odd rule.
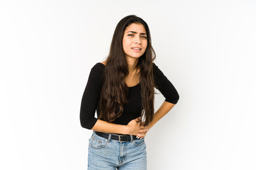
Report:
[[[140,117],[136,119],[132,119],[128,124],[128,135],[135,135],[138,137],[144,137],[145,135],[142,135],[140,133],[146,132],[147,129],[143,129],[143,126],[140,125]]]

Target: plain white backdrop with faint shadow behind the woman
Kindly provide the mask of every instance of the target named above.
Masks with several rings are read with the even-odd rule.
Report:
[[[1,0],[1,170],[86,169],[82,93],[132,14],[180,94],[146,135],[147,169],[256,170],[255,0]]]

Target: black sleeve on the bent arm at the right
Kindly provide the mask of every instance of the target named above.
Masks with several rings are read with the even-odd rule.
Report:
[[[176,104],[180,98],[177,90],[155,63],[153,63],[153,74],[156,88],[163,94],[165,101]]]

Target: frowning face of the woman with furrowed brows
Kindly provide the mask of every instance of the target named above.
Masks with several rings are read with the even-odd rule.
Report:
[[[126,27],[123,36],[123,49],[126,58],[139,58],[146,51],[146,29],[142,24],[132,23]],[[139,50],[133,49],[140,48]]]

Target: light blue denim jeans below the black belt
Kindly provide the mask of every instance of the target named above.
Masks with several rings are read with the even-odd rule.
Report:
[[[88,147],[87,170],[146,170],[144,138],[119,142],[92,132]],[[132,136],[131,136],[132,137]]]

